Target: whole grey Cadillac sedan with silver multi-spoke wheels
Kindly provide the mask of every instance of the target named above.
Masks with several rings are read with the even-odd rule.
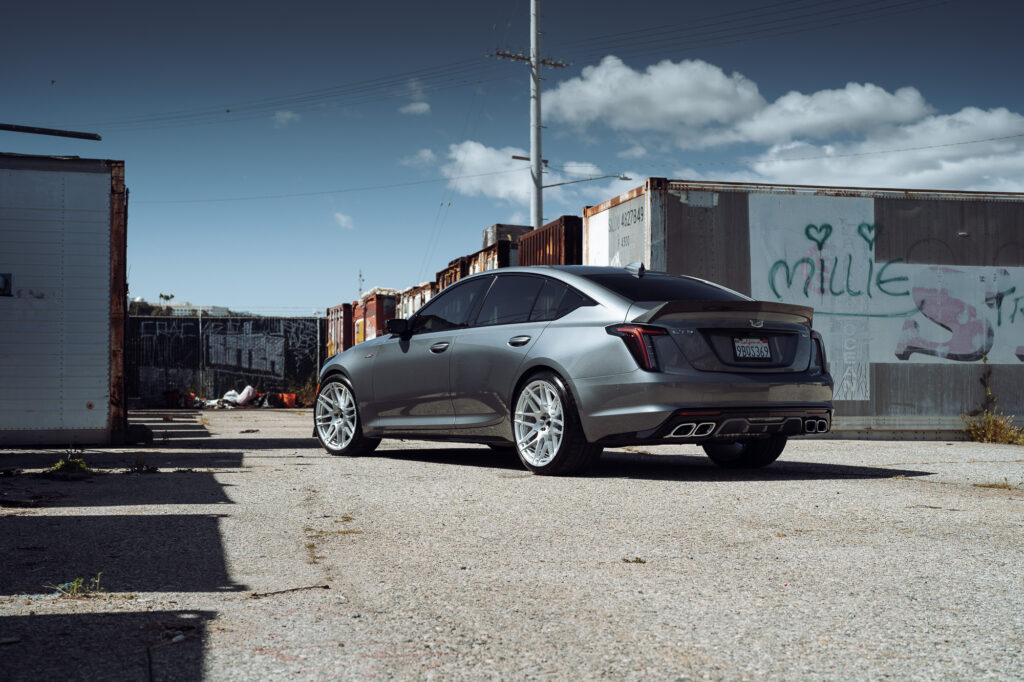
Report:
[[[644,443],[766,466],[787,438],[831,428],[812,313],[642,265],[482,272],[329,358],[314,432],[332,455],[381,438],[486,443],[539,474]]]

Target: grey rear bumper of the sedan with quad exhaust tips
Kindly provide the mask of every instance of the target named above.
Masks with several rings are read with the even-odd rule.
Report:
[[[821,373],[684,377],[638,370],[580,380],[573,389],[591,442],[702,442],[831,429],[833,380]]]

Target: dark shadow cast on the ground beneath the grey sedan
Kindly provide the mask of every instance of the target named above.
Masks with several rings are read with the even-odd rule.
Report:
[[[521,470],[525,473],[525,468],[515,454],[495,452],[488,447],[451,447],[439,444],[436,449],[381,449],[375,452],[372,457],[455,466]],[[787,462],[784,459],[780,459],[763,469],[723,469],[702,455],[649,455],[624,450],[606,450],[601,459],[584,476],[679,481],[734,481],[896,478],[899,476],[931,476],[933,473],[890,467]]]

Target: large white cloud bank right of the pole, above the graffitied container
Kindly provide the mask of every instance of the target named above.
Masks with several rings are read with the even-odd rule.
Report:
[[[552,88],[545,101],[549,122],[565,124],[586,143],[623,148],[620,159],[744,145],[749,156],[736,160],[738,170],[684,167],[675,172],[682,179],[1024,190],[1024,137],[1016,137],[1024,117],[1006,109],[937,113],[913,87],[847,83],[769,101],[741,74],[705,61],[638,70],[606,56]],[[597,182],[573,185],[578,197],[598,189]]]

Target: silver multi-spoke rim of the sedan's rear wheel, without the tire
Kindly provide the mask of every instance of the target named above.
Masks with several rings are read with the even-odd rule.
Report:
[[[526,384],[515,406],[515,441],[530,466],[543,467],[555,457],[565,430],[562,398],[544,379]]]

